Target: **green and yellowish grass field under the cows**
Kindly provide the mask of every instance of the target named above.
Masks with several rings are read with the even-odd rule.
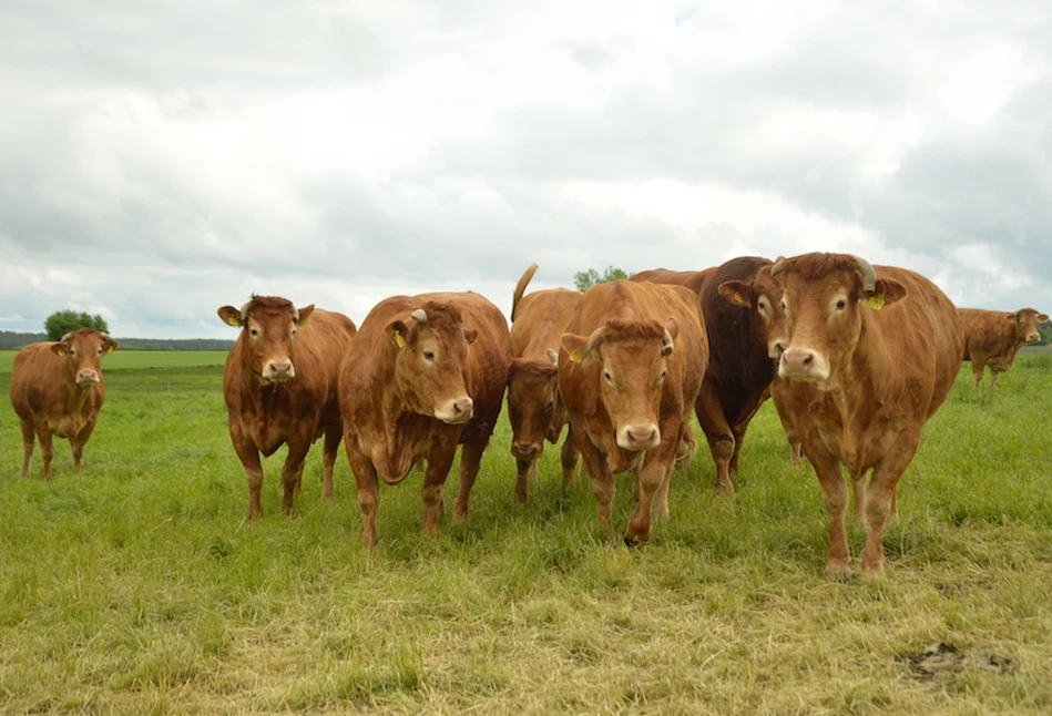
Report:
[[[642,549],[604,544],[555,450],[514,504],[502,421],[469,519],[423,539],[419,475],[381,485],[367,556],[346,459],[323,503],[318,447],[294,519],[279,453],[264,519],[243,521],[221,362],[105,358],[85,464],[58,441],[50,482],[39,454],[18,477],[0,410],[0,712],[1052,712],[1050,357],[1021,357],[995,392],[966,366],[900,485],[887,576],[847,584],[824,576],[817,480],[769,403],[737,499],[712,493],[698,453]],[[850,535],[857,570],[854,520]],[[923,659],[937,643],[958,651]]]

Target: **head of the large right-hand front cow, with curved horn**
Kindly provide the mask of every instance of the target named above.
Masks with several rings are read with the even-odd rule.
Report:
[[[868,311],[906,296],[906,287],[876,276],[847,254],[779,258],[770,270],[783,282],[787,344],[778,376],[824,385],[850,359]]]

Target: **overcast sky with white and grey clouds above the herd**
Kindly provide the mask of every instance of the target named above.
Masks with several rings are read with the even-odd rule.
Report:
[[[3,0],[0,329],[841,250],[1052,310],[1048,0]]]

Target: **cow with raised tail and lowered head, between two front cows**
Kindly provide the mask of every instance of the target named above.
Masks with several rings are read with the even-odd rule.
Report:
[[[549,288],[523,296],[537,268],[537,264],[532,264],[525,269],[511,301],[508,417],[519,502],[527,501],[527,485],[537,477],[537,461],[544,451],[544,440],[558,443],[568,421],[565,406],[559,397],[558,350],[570,316],[583,295],[568,288]],[[565,489],[578,463],[573,436],[563,442],[561,462]]]

